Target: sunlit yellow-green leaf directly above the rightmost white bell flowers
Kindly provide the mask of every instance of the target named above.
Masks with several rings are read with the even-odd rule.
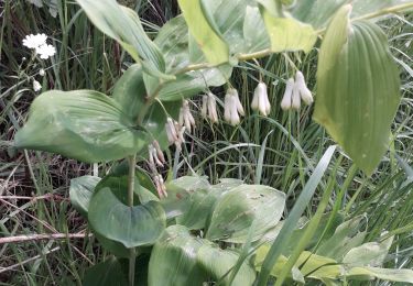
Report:
[[[293,18],[272,15],[267,9],[261,9],[268,34],[271,40],[271,52],[308,53],[317,41],[317,33],[313,26],[301,23]]]

